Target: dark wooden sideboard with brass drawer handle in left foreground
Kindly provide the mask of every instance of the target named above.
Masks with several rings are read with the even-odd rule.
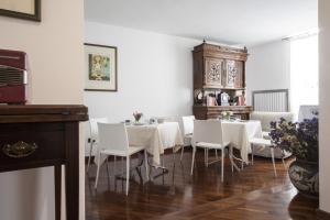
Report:
[[[66,219],[79,218],[79,105],[0,106],[0,172],[54,166],[55,219],[61,219],[62,165],[65,165]]]

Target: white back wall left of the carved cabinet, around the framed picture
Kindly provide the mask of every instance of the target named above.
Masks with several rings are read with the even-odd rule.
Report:
[[[86,43],[118,47],[118,91],[85,91],[90,118],[193,113],[191,51],[200,41],[94,22],[86,23],[85,36]]]

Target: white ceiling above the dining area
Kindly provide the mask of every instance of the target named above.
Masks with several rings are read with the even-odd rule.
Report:
[[[85,0],[85,19],[252,46],[316,29],[318,0]]]

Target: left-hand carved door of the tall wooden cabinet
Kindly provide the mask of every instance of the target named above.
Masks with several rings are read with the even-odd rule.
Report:
[[[205,86],[221,87],[221,77],[223,69],[223,59],[205,58]]]

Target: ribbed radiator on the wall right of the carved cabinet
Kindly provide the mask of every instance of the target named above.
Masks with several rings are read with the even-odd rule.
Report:
[[[252,91],[252,106],[254,111],[288,111],[288,89]]]

